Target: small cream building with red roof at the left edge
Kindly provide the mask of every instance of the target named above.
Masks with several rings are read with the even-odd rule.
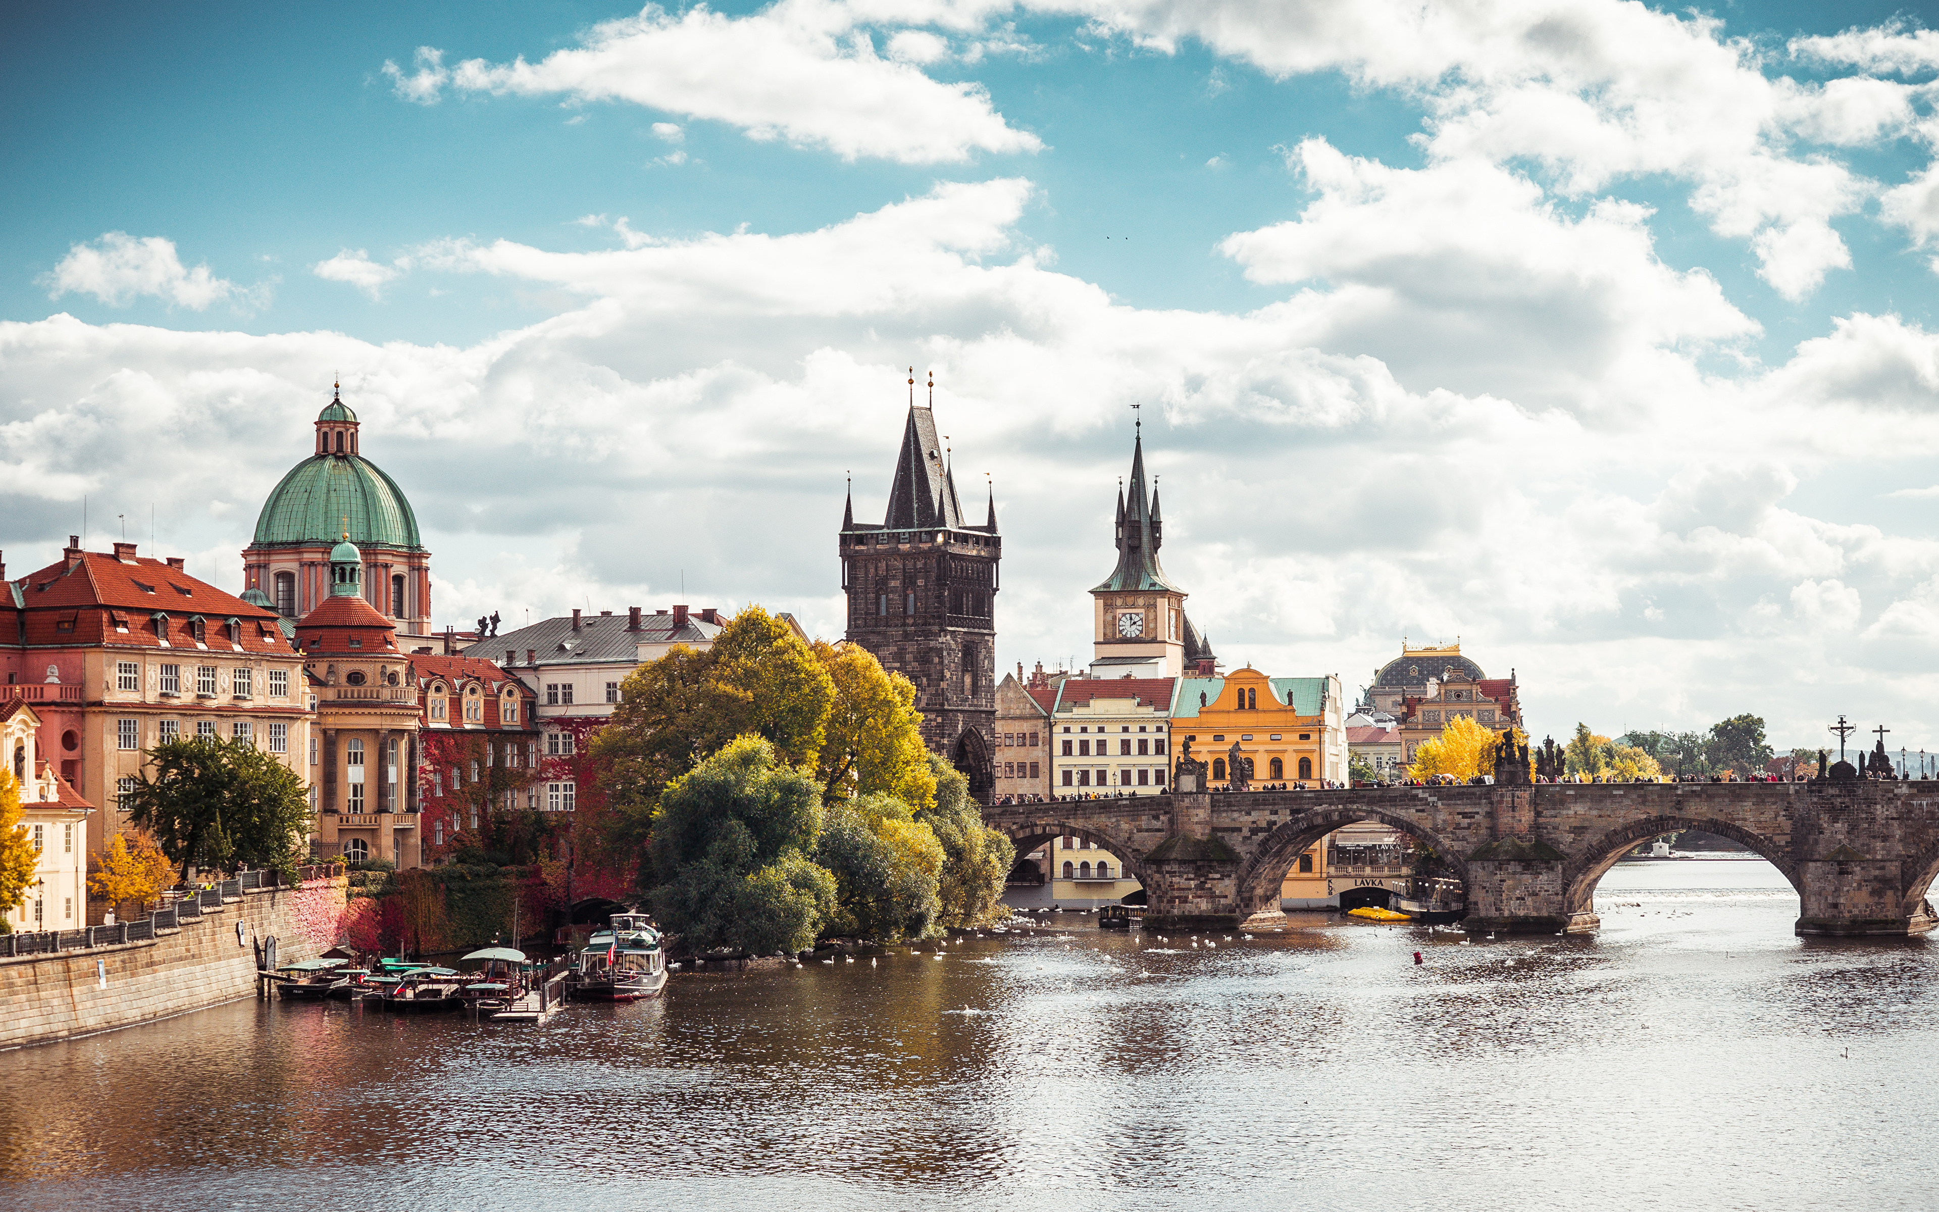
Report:
[[[0,702],[0,752],[19,785],[19,822],[37,851],[27,898],[4,911],[16,931],[78,931],[87,925],[87,816],[54,764],[39,754],[41,718],[25,700]]]

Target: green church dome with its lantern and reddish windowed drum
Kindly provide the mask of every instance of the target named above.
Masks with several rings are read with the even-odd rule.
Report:
[[[275,485],[242,549],[242,588],[281,617],[308,615],[334,593],[330,553],[357,545],[361,595],[403,636],[430,634],[430,553],[403,489],[363,456],[357,413],[341,386],[316,415],[310,454]]]

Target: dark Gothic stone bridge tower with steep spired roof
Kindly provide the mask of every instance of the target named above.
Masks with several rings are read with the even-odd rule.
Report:
[[[935,380],[902,429],[888,516],[855,522],[853,493],[842,512],[842,590],[847,638],[884,669],[915,683],[923,743],[970,776],[989,803],[997,739],[997,496],[983,526],[970,526],[956,496],[946,444],[937,436]]]

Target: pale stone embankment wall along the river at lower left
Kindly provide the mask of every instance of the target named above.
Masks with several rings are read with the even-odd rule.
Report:
[[[343,894],[341,877],[244,892],[153,941],[0,960],[0,1049],[254,997],[254,942],[275,935],[277,964],[314,960],[335,941]]]

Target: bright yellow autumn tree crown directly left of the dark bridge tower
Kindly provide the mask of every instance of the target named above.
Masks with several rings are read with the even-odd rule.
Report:
[[[915,685],[886,673],[859,644],[816,640],[814,657],[834,686],[818,770],[824,803],[880,791],[917,813],[935,805],[937,778],[923,747]]]

